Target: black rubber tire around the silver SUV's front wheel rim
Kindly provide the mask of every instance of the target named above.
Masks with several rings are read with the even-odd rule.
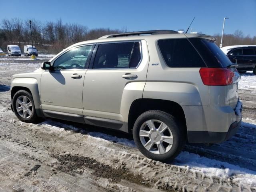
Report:
[[[20,97],[20,96],[26,96],[31,104],[32,104],[32,114],[30,115],[29,118],[23,118],[22,116],[20,116],[20,114],[18,114],[17,109],[16,109],[16,100]],[[22,122],[26,122],[26,123],[38,123],[38,122],[42,122],[43,119],[39,118],[36,114],[36,108],[35,108],[35,104],[34,104],[34,100],[32,95],[30,94],[30,92],[27,92],[25,90],[19,90],[18,92],[16,92],[12,98],[12,108],[14,111],[14,114],[16,115],[16,117],[21,120]]]

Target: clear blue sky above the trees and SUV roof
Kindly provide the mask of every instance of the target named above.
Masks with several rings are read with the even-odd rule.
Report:
[[[33,5],[30,5],[33,2]],[[0,18],[78,23],[88,28],[127,27],[129,31],[186,29],[232,34],[240,29],[256,35],[256,0],[0,0]]]

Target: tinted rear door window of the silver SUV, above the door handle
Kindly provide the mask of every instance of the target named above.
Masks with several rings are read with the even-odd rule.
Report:
[[[100,44],[93,68],[133,68],[140,59],[139,42]]]

